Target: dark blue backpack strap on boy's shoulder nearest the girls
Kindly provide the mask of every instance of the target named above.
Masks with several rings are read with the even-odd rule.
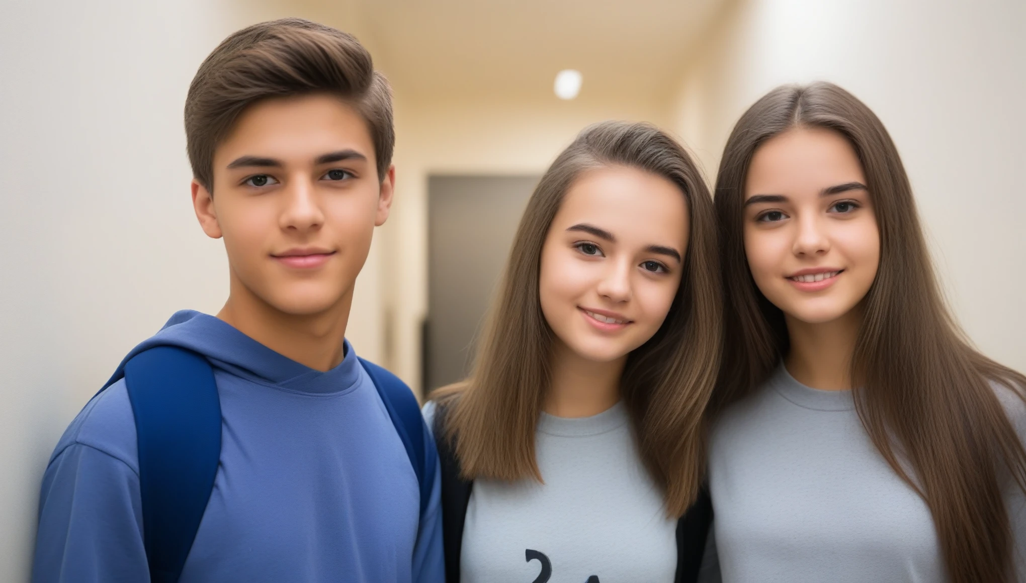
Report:
[[[392,424],[402,440],[402,445],[406,448],[406,455],[409,456],[409,463],[417,473],[417,482],[421,487],[421,515],[431,501],[431,489],[435,485],[435,473],[438,471],[438,457],[435,454],[435,445],[424,439],[425,425],[424,417],[421,415],[421,406],[413,397],[413,391],[402,382],[399,377],[388,370],[360,359],[370,380],[373,381],[378,394],[381,395],[385,409]]]

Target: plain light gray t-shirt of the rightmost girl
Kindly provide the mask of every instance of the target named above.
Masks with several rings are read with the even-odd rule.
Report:
[[[1026,406],[996,390],[1023,439]],[[876,451],[851,391],[810,388],[781,366],[716,423],[709,485],[725,583],[945,580],[930,509]],[[1007,500],[1022,581],[1026,499]]]

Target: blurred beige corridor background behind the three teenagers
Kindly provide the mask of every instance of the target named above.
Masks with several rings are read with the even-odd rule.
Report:
[[[520,210],[581,128],[658,124],[711,181],[751,102],[817,79],[882,119],[960,323],[1026,370],[1022,0],[3,0],[0,581],[28,581],[68,422],[171,313],[227,297],[182,109],[225,36],[285,15],[353,33],[392,82],[397,196],[348,337],[416,390],[462,375]]]

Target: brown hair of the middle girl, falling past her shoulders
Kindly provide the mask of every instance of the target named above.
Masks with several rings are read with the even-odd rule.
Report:
[[[654,126],[595,124],[556,158],[520,220],[471,375],[432,398],[451,409],[445,434],[455,440],[465,478],[542,480],[535,429],[549,387],[553,338],[539,301],[542,245],[574,181],[588,169],[614,165],[672,181],[688,207],[680,287],[659,331],[629,355],[621,379],[639,454],[663,488],[668,514],[679,516],[697,497],[705,471],[703,412],[722,333],[719,268],[702,174],[683,148]]]

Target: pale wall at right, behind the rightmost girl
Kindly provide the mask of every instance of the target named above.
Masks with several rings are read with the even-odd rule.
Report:
[[[735,0],[682,76],[673,127],[712,175],[734,122],[781,83],[833,81],[883,120],[956,316],[1026,370],[1026,3]]]

